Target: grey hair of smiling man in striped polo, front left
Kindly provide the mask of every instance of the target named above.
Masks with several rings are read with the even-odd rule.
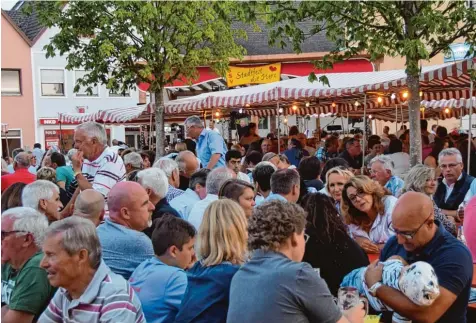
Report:
[[[53,222],[46,230],[46,238],[61,235],[61,247],[70,255],[82,249],[89,254],[91,268],[97,269],[101,264],[101,244],[94,224],[79,216]]]

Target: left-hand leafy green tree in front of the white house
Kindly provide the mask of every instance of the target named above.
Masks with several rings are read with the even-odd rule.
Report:
[[[236,19],[252,21],[253,5],[225,1],[71,1],[31,2],[46,27],[59,32],[45,46],[46,56],[66,55],[68,70],[88,73],[80,86],[105,84],[121,91],[150,83],[155,98],[157,155],[163,156],[166,85],[196,79],[198,66],[225,75],[230,58],[245,49],[235,39],[246,33],[232,28]]]

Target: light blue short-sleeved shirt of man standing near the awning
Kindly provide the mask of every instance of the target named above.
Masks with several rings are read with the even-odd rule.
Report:
[[[206,168],[210,162],[210,158],[214,154],[220,154],[220,159],[215,164],[214,168],[225,167],[225,154],[227,152],[225,141],[213,130],[203,129],[197,140],[197,156]]]

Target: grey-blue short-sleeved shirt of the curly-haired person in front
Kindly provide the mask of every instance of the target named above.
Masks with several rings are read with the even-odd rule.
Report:
[[[335,323],[341,317],[319,274],[281,253],[255,250],[231,281],[227,323]]]

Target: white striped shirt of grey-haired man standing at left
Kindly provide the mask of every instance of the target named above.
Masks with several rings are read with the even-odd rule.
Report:
[[[124,178],[126,168],[122,158],[107,147],[96,160],[85,160],[81,172],[93,189],[106,197],[111,188]]]

